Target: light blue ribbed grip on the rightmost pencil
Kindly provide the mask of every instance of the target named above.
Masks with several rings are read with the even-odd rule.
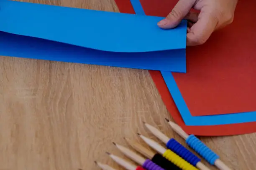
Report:
[[[189,135],[186,139],[186,143],[211,165],[214,165],[215,160],[220,158],[216,153],[202,143],[201,140],[195,137],[195,135]]]

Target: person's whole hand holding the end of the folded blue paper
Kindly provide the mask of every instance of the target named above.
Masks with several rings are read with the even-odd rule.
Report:
[[[172,12],[157,25],[175,28],[182,19],[188,20],[187,46],[205,43],[212,32],[233,22],[238,0],[179,0]],[[192,11],[191,9],[200,12]]]

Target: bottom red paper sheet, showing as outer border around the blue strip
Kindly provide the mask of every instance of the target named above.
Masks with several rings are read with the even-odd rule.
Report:
[[[147,0],[149,3],[153,0]],[[162,11],[161,9],[166,9],[166,4],[175,5],[175,3],[170,2],[171,0],[161,0],[161,3],[156,5],[157,0],[155,3],[151,5],[156,5],[151,9]],[[130,0],[115,0],[116,4],[118,5],[119,11],[121,13],[135,13],[133,7],[131,5]],[[141,0],[141,3],[143,0]],[[163,5],[164,4],[164,5]],[[161,6],[162,8],[161,8]],[[170,6],[172,9],[173,6]],[[157,15],[157,12],[155,12]],[[165,16],[168,14],[164,12],[159,12],[160,15],[157,16]],[[231,125],[213,125],[213,126],[187,126],[184,124],[182,117],[177,110],[177,107],[172,99],[172,96],[169,93],[169,90],[164,82],[163,77],[161,76],[161,72],[159,71],[151,71],[149,70],[152,79],[154,80],[156,87],[159,90],[159,93],[162,97],[163,102],[166,105],[167,110],[172,115],[174,121],[182,127],[182,129],[188,134],[195,134],[200,136],[224,136],[224,135],[239,135],[245,133],[253,133],[256,131],[256,122],[248,122],[248,123],[238,123],[238,124],[231,124]],[[163,117],[164,118],[164,117]]]

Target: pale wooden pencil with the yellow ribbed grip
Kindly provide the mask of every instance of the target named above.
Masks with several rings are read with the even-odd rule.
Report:
[[[161,155],[164,156],[164,158],[168,159],[169,161],[171,161],[172,163],[174,163],[175,165],[177,165],[177,167],[181,168],[182,170],[198,170],[197,168],[195,168],[193,165],[191,165],[190,163],[188,163],[187,161],[185,161],[184,159],[182,159],[181,157],[179,157],[179,155],[177,155],[176,153],[172,152],[169,149],[165,149],[164,147],[162,147],[161,145],[159,145],[158,143],[156,143],[154,140],[151,140],[149,138],[146,138],[145,136],[139,134],[139,137],[141,139],[144,140],[145,143],[147,143],[151,148],[153,148],[154,150],[156,150],[158,153],[160,153]]]

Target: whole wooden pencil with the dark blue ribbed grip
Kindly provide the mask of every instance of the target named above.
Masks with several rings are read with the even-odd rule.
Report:
[[[148,130],[151,131],[151,133],[153,133],[157,138],[159,138],[159,140],[161,140],[163,143],[166,144],[166,147],[170,150],[172,150],[174,153],[176,153],[177,155],[179,155],[180,157],[182,157],[184,160],[187,160],[185,157],[187,156],[188,158],[190,158],[189,160],[187,160],[190,164],[192,164],[193,166],[197,167],[200,170],[210,170],[209,168],[207,168],[207,166],[205,166],[200,159],[192,152],[190,152],[187,148],[185,148],[184,146],[182,146],[180,143],[178,143],[176,140],[174,140],[173,138],[170,139],[168,138],[166,135],[164,135],[164,133],[161,133],[160,130],[158,130],[157,128],[149,125],[146,122],[143,122],[144,125],[146,126],[146,128],[148,128]],[[171,146],[173,145],[173,146]],[[184,154],[178,153],[178,152],[183,152]],[[189,155],[186,155],[189,154]]]

